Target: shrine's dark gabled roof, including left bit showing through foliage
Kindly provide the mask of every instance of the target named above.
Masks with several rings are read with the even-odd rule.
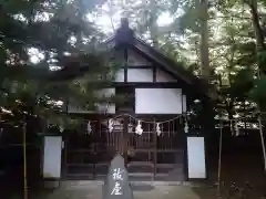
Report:
[[[173,74],[178,81],[182,81],[192,93],[195,93],[204,98],[217,98],[217,92],[212,85],[193,75],[191,72],[185,70],[181,63],[168,59],[163,53],[135,36],[134,31],[129,27],[127,19],[121,20],[121,27],[117,29],[115,35],[108,39],[103,43],[103,46],[104,49],[108,46],[109,50],[117,48],[133,49],[140,55],[151,60],[156,65]],[[72,65],[73,67],[68,65]],[[52,75],[52,80],[58,80],[59,76],[61,76],[61,78],[73,78],[74,76],[82,75],[90,71],[90,65],[79,65],[76,62],[69,62],[68,64],[64,64],[64,69],[54,73],[54,75]]]

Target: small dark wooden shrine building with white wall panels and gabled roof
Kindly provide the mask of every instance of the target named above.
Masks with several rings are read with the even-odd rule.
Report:
[[[66,105],[69,115],[84,118],[84,134],[70,132],[63,138],[60,177],[103,179],[120,153],[131,180],[206,179],[207,116],[201,116],[197,127],[188,123],[196,102],[203,102],[207,113],[206,87],[135,36],[126,20],[105,45],[123,66],[103,92],[126,101],[101,107],[104,113]]]

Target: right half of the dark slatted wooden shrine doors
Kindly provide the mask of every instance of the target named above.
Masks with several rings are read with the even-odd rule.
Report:
[[[127,169],[131,180],[183,180],[184,139],[181,121],[170,119],[160,124],[161,135],[156,132],[155,118],[142,121],[142,135],[135,133],[135,118],[130,117],[127,124]]]

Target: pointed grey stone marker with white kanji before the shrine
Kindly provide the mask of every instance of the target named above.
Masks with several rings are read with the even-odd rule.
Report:
[[[133,199],[129,174],[121,155],[116,155],[111,161],[103,186],[103,199]]]

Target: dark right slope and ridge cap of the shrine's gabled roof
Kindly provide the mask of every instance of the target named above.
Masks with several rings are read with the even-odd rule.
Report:
[[[193,92],[211,100],[216,98],[216,96],[214,96],[216,92],[209,92],[212,88],[209,84],[185,70],[181,63],[171,60],[140,38],[135,36],[134,31],[129,27],[127,19],[121,20],[121,27],[117,29],[116,34],[106,40],[105,44],[110,44],[111,49],[121,46],[133,49],[139,54],[156,63],[156,65],[164,67],[164,70],[173,74],[177,80],[183,81]]]

